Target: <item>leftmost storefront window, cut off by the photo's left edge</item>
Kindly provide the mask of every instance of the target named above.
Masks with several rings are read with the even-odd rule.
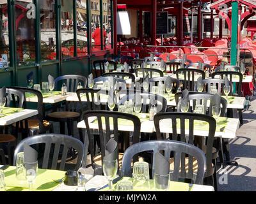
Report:
[[[0,8],[0,68],[3,68],[8,67],[10,59],[7,0],[2,1]]]

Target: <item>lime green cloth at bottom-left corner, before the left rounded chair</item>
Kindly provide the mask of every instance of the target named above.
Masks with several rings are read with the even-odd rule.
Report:
[[[10,166],[4,170],[6,191],[28,191],[28,182],[16,179],[15,166]],[[65,171],[42,170],[38,169],[33,189],[35,191],[52,191],[58,185],[54,180],[62,179],[65,176]]]

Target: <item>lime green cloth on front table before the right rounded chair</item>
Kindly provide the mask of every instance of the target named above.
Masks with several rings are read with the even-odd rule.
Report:
[[[124,177],[121,181],[126,181],[129,180],[132,182],[132,178],[127,178]],[[118,183],[117,183],[118,184]],[[113,185],[113,189],[115,191],[117,184]],[[108,191],[109,187],[106,187],[104,189],[102,189],[101,191]],[[138,187],[138,186],[133,186],[133,191],[155,191],[154,189],[154,180],[150,180],[149,181],[149,189],[147,187],[147,184],[143,185],[142,187]],[[170,182],[170,187],[169,187],[169,191],[193,191],[193,186],[189,187],[188,183],[183,183],[183,182]]]

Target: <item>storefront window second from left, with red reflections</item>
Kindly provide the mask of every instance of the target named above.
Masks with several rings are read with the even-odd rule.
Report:
[[[35,4],[33,1],[15,1],[17,62],[20,65],[35,63]]]

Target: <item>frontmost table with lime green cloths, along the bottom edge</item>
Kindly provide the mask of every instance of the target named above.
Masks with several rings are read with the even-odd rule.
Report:
[[[0,165],[0,168],[2,166]],[[57,170],[43,170],[38,169],[35,183],[33,184],[34,191],[77,191],[77,186],[66,186],[60,184],[56,180],[63,179],[65,171]],[[4,170],[4,182],[6,184],[6,191],[28,191],[28,182],[26,180],[20,181],[15,176],[15,166],[9,166]],[[86,191],[100,189],[108,184],[108,180],[104,176],[85,175],[88,182],[85,185]],[[131,178],[123,178],[129,180]],[[115,187],[115,185],[113,186]],[[150,190],[154,191],[152,187],[152,180],[150,180]],[[104,190],[108,190],[108,187]],[[148,189],[140,189],[148,191]],[[136,191],[136,189],[134,189]],[[212,186],[189,185],[183,182],[170,182],[170,191],[214,191]]]

